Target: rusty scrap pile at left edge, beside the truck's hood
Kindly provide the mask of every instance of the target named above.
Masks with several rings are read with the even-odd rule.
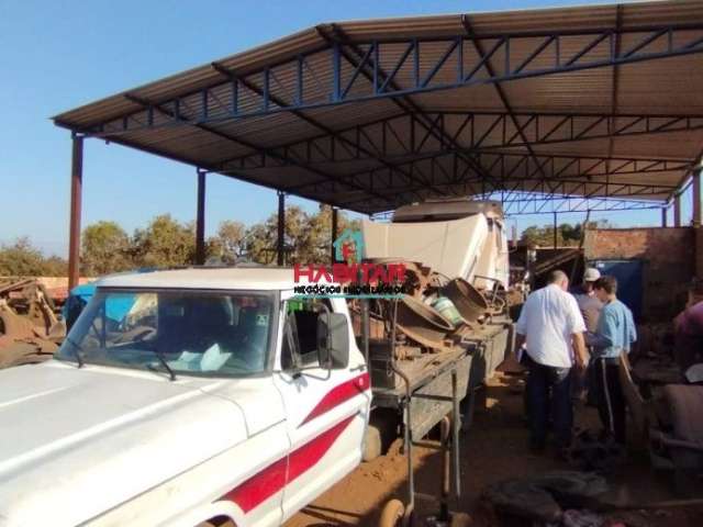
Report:
[[[65,334],[42,283],[36,279],[0,281],[0,368],[51,358]]]

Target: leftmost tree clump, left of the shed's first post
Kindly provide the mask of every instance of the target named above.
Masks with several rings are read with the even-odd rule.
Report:
[[[45,257],[26,237],[0,247],[0,276],[60,277],[66,274],[67,267],[58,256]]]

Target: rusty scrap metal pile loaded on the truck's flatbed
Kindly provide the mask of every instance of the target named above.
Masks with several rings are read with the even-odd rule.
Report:
[[[501,288],[481,291],[462,278],[445,277],[423,264],[402,264],[406,294],[398,300],[375,300],[369,307],[370,339],[388,341],[395,332],[395,359],[450,348],[506,310],[505,292]],[[352,309],[360,312],[355,306]],[[360,323],[357,328],[360,330]]]

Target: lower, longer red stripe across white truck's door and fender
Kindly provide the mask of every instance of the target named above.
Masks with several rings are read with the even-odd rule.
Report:
[[[293,450],[288,460],[281,458],[278,461],[257,472],[238,486],[227,492],[221,500],[234,502],[247,514],[286,485],[286,466],[288,461],[288,483],[313,468],[322,457],[332,448],[334,441],[352,423],[355,415],[347,417],[332,428],[323,431],[311,441]]]

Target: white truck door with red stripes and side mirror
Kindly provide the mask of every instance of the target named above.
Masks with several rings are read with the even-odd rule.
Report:
[[[320,305],[347,314],[349,360],[321,368],[316,352]],[[283,520],[350,472],[361,459],[371,402],[369,373],[352,330],[344,299],[283,302],[279,360],[274,379],[288,415],[290,455]]]

